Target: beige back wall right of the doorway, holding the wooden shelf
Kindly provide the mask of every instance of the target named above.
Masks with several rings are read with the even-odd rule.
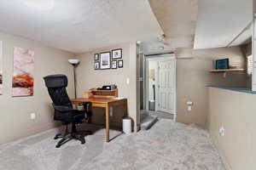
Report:
[[[186,54],[187,53],[187,54]],[[207,86],[247,86],[246,72],[210,73],[213,59],[230,58],[230,65],[245,68],[246,60],[240,47],[186,50],[177,55],[177,122],[205,126],[207,122]],[[192,57],[192,59],[178,59]],[[192,111],[187,102],[192,101]]]

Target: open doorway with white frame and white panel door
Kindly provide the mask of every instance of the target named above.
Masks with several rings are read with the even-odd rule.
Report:
[[[176,58],[174,54],[145,58],[146,110],[148,116],[176,121]]]

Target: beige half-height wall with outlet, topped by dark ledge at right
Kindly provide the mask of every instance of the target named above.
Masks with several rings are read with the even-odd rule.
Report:
[[[209,88],[208,126],[227,170],[256,167],[256,95]],[[218,129],[224,127],[224,136]]]

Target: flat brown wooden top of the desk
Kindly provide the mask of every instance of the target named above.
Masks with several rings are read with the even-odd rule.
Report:
[[[80,102],[96,102],[96,103],[111,103],[111,102],[118,102],[118,101],[125,101],[125,98],[78,98],[78,99],[71,99],[73,103],[80,103]]]

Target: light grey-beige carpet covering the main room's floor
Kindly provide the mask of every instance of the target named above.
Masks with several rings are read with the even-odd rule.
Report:
[[[1,170],[224,170],[207,131],[160,119],[148,131],[121,134],[104,143],[104,129],[86,144],[55,148],[55,130],[0,145]]]

